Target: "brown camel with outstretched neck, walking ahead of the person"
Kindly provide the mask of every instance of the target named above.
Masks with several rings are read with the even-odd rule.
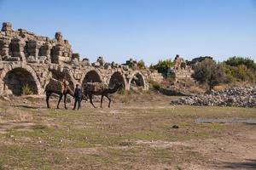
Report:
[[[88,96],[90,99],[90,104],[96,108],[96,106],[92,103],[92,96],[93,95],[102,95],[101,99],[101,107],[102,107],[102,101],[103,97],[105,96],[108,98],[108,107],[110,107],[111,99],[108,97],[108,94],[114,94],[119,89],[123,88],[122,83],[116,83],[113,85],[113,88],[107,88],[106,85],[104,85],[102,82],[87,82],[84,85],[84,95]]]

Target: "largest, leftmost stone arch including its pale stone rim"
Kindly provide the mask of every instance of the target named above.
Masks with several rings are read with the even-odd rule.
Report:
[[[43,93],[37,74],[29,65],[6,65],[0,77],[3,94],[21,95],[22,87],[26,84],[31,88],[32,94]]]

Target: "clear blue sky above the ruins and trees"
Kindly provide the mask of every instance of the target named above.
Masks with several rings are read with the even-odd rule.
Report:
[[[48,37],[61,31],[90,61],[256,60],[255,0],[0,0],[0,21]]]

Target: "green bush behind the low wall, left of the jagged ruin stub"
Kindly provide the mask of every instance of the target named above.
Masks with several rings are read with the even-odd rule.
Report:
[[[168,68],[174,66],[175,62],[172,59],[159,60],[156,65],[150,65],[150,69],[157,70],[167,77]]]

